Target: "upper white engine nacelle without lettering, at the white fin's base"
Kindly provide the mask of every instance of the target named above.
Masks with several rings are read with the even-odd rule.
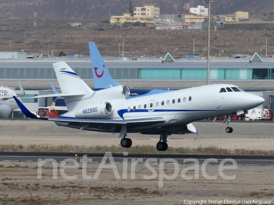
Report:
[[[98,92],[98,95],[104,96],[104,98],[108,100],[125,99],[129,96],[129,88],[125,85],[110,87],[97,92]]]

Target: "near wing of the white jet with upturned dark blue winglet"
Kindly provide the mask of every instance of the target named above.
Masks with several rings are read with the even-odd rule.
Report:
[[[32,119],[40,119],[40,120],[48,120],[48,121],[56,121],[56,122],[68,122],[68,123],[78,123],[78,124],[90,124],[90,125],[110,125],[110,126],[118,126],[122,127],[123,125],[131,125],[135,126],[148,126],[149,124],[155,124],[159,122],[164,122],[165,119],[161,117],[156,118],[139,118],[139,119],[130,119],[130,120],[102,120],[102,119],[79,119],[79,118],[69,118],[69,117],[59,117],[59,118],[45,118],[40,117],[38,115],[33,114],[26,108],[26,106],[18,100],[17,97],[13,96],[19,108],[23,112],[24,115],[28,118]]]

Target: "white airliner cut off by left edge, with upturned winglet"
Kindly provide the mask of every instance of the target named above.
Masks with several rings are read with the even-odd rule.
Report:
[[[0,118],[7,118],[9,117],[12,110],[15,110],[18,107],[18,104],[14,101],[14,98],[12,96],[24,96],[25,91],[22,87],[21,82],[20,84],[20,90],[21,95],[17,95],[16,92],[10,88],[3,87],[1,85],[0,87]]]

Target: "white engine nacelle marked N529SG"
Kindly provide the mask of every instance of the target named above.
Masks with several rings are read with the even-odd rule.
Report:
[[[102,102],[75,111],[75,117],[80,119],[98,119],[106,117],[111,112],[112,105],[109,102]]]

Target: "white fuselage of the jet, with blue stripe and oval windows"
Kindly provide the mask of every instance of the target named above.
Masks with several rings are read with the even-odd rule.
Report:
[[[113,97],[108,97],[112,95],[112,93],[108,93],[111,92],[111,89],[105,89],[95,91],[92,96],[84,96],[79,100],[81,103],[78,108],[88,106],[95,111],[93,105],[107,101],[111,103],[113,111],[100,119],[129,120],[162,117],[165,122],[151,125],[149,128],[159,126],[163,128],[165,126],[179,127],[209,117],[248,110],[264,102],[262,97],[244,91],[220,93],[220,89],[224,87],[237,86],[231,84],[205,85],[131,99],[121,97],[113,99]],[[75,100],[66,101],[66,104],[70,103],[73,104],[73,107],[77,106]],[[83,109],[83,116],[88,114],[86,112],[86,109]],[[62,116],[75,118],[75,109]]]

